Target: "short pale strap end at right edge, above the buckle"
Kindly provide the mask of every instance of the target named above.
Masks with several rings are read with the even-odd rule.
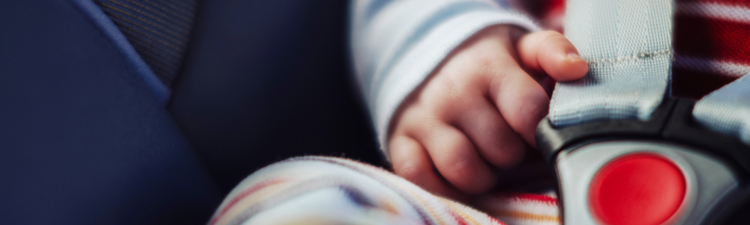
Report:
[[[695,104],[693,117],[708,129],[750,145],[750,76],[711,92]]]

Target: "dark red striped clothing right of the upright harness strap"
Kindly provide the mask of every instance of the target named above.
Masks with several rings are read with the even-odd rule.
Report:
[[[678,0],[672,95],[699,99],[750,72],[750,1]]]

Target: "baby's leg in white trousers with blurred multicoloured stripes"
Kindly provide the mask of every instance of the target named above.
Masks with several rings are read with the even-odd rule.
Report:
[[[380,168],[341,158],[301,157],[250,175],[226,197],[209,224],[560,223],[554,195],[492,194],[477,199],[476,205],[489,215],[429,194]]]

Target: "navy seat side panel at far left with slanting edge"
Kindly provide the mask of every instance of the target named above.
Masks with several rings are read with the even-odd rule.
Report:
[[[0,1],[0,223],[203,224],[221,197],[71,1]]]

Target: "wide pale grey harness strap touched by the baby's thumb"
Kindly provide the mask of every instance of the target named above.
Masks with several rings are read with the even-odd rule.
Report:
[[[669,82],[672,0],[569,0],[567,10],[565,35],[589,73],[557,84],[552,124],[649,119]]]

